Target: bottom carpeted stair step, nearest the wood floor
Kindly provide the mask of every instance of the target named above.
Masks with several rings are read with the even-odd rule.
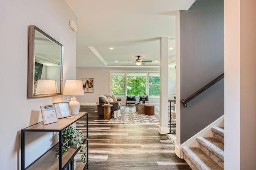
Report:
[[[184,160],[193,170],[222,170],[212,159],[210,159],[199,148],[182,148]]]

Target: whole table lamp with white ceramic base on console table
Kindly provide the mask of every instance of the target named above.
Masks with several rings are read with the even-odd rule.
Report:
[[[83,83],[81,80],[66,80],[63,95],[73,96],[69,102],[70,110],[72,115],[77,115],[80,109],[80,103],[76,101],[75,96],[84,95]]]

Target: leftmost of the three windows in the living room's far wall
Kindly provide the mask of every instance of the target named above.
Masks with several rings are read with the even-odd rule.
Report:
[[[124,73],[111,73],[111,94],[124,96]]]

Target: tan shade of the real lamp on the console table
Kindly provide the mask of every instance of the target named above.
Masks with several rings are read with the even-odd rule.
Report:
[[[65,96],[83,96],[84,88],[82,80],[66,80],[63,95]]]

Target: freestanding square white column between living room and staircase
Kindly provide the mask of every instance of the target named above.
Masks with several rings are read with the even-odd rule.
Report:
[[[168,37],[160,38],[160,120],[158,131],[166,134],[168,128]]]

